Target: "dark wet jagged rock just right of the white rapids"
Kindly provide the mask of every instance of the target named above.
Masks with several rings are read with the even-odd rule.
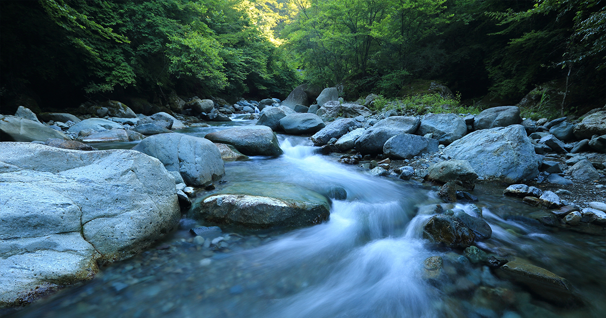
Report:
[[[431,217],[423,227],[423,238],[431,243],[444,243],[451,248],[469,247],[474,239],[473,232],[458,219],[438,214]]]

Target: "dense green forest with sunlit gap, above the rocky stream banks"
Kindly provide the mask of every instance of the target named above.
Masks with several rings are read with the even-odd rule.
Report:
[[[567,105],[604,105],[605,3],[2,1],[2,101],[284,98],[302,82],[395,97],[425,79],[473,101],[551,85]]]

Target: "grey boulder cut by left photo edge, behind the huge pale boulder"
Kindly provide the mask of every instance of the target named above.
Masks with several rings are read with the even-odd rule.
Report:
[[[49,138],[69,140],[61,131],[17,116],[0,115],[0,141],[46,141]]]

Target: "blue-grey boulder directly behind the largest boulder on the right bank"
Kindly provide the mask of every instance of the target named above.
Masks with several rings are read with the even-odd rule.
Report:
[[[467,134],[467,124],[456,114],[425,114],[417,134],[433,134],[440,144],[450,145]]]

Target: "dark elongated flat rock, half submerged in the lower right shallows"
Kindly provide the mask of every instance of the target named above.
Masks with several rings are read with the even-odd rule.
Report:
[[[568,280],[559,277],[541,267],[527,263],[511,261],[496,271],[502,279],[512,280],[527,286],[542,298],[554,305],[573,305],[579,303]]]

